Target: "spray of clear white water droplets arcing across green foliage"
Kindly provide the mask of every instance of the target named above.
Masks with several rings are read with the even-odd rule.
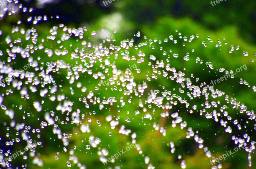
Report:
[[[18,4],[18,1],[13,1],[4,7],[0,15],[1,17],[4,17],[6,13],[12,15],[18,10],[23,12],[33,11],[33,9],[23,8],[22,5]],[[28,22],[33,22],[35,25],[42,20],[46,21],[47,17],[28,18]],[[18,21],[17,24],[22,25],[21,21]],[[163,42],[157,38],[152,40],[144,36],[144,41],[139,44],[135,44],[134,39],[125,39],[121,41],[120,45],[116,45],[117,42],[112,36],[103,39],[102,43],[96,45],[94,42],[85,40],[84,35],[96,36],[97,32],[89,32],[86,27],[69,28],[64,24],[52,27],[49,30],[49,35],[40,39],[35,28],[25,30],[15,26],[11,32],[4,32],[8,33],[6,37],[3,37],[2,33],[1,31],[1,36],[5,38],[8,48],[0,51],[1,57],[4,58],[0,59],[0,80],[2,81],[0,96],[2,110],[0,118],[3,119],[1,122],[4,121],[4,130],[7,133],[4,137],[4,140],[7,140],[5,142],[7,148],[10,145],[22,142],[21,140],[29,145],[30,153],[24,152],[22,154],[23,159],[32,158],[33,163],[38,166],[43,165],[40,157],[36,155],[36,151],[38,146],[44,146],[44,140],[41,139],[43,131],[50,128],[52,133],[57,135],[57,138],[62,142],[62,145],[58,145],[60,146],[60,152],[56,153],[54,159],[58,160],[61,153],[68,152],[70,154],[69,159],[67,159],[68,167],[76,164],[80,168],[85,168],[86,164],[81,164],[79,158],[75,155],[77,146],[71,147],[69,139],[78,136],[79,133],[92,133],[87,138],[88,141],[79,137],[76,138],[86,142],[84,143],[84,148],[81,149],[89,152],[90,149],[98,147],[99,160],[107,162],[109,147],[101,147],[100,142],[108,140],[102,140],[100,137],[94,136],[93,131],[100,130],[100,128],[93,129],[93,125],[90,124],[93,122],[96,122],[98,127],[101,128],[110,127],[111,131],[107,132],[109,137],[112,136],[116,128],[120,135],[130,136],[131,143],[137,144],[138,153],[143,154],[142,150],[144,148],[136,140],[136,131],[126,128],[125,123],[132,123],[134,118],[141,118],[144,125],[146,125],[147,120],[154,121],[152,127],[155,130],[159,130],[163,136],[166,136],[168,129],[164,124],[158,123],[155,118],[152,118],[153,114],[159,112],[157,109],[160,109],[162,112],[159,113],[159,116],[162,119],[171,119],[170,123],[173,128],[179,127],[182,130],[187,130],[186,138],[194,138],[198,147],[203,149],[205,155],[214,161],[215,158],[208,147],[204,145],[205,140],[200,137],[200,132],[193,130],[192,127],[188,126],[189,122],[183,120],[183,112],[179,110],[179,107],[184,105],[183,107],[187,109],[188,114],[197,113],[199,116],[204,116],[205,119],[212,120],[212,122],[215,121],[227,133],[232,133],[233,130],[242,130],[244,132],[243,137],[234,135],[230,140],[240,147],[244,144],[245,151],[249,154],[249,166],[251,166],[251,153],[255,149],[255,141],[251,140],[245,128],[249,121],[255,122],[256,115],[254,111],[247,110],[247,107],[243,103],[236,101],[236,98],[230,98],[225,95],[224,91],[214,89],[212,85],[206,84],[206,82],[202,82],[200,85],[193,85],[195,75],[187,75],[185,74],[185,68],[182,70],[180,66],[174,67],[175,65],[172,64],[171,60],[179,59],[181,56],[178,53],[171,54],[172,49],[159,48],[160,51],[165,50],[163,53],[161,52],[161,55],[165,56],[165,60],[159,60],[158,56],[153,54],[146,55],[143,53],[143,50],[156,50],[156,46],[161,45],[163,42],[175,45],[181,42],[182,46],[185,46],[198,38],[198,34],[196,36],[182,37],[181,33],[176,30],[174,35],[165,38]],[[114,31],[114,33],[117,32]],[[176,35],[178,35],[178,39],[175,39]],[[19,38],[14,38],[17,36]],[[134,36],[135,38],[140,38],[140,32]],[[69,43],[71,37],[76,38],[76,42],[79,45]],[[210,43],[213,42],[210,37],[207,40]],[[228,44],[225,38],[222,40],[224,42],[218,39],[215,45],[216,48],[221,47],[222,44]],[[52,46],[44,45],[47,41],[52,41]],[[202,45],[207,47],[207,43],[203,41]],[[72,49],[73,45],[78,47]],[[137,56],[130,55],[130,52],[134,49],[137,51]],[[228,53],[232,53],[234,50],[239,50],[239,46],[235,48],[232,45]],[[195,50],[192,49],[191,52],[193,53]],[[190,51],[186,52],[183,60],[195,60],[196,63],[204,63],[199,57],[192,59],[189,53]],[[248,52],[243,52],[242,54],[248,56]],[[26,69],[25,65],[20,65],[19,60],[22,60],[22,63],[26,62]],[[46,60],[46,62],[41,60]],[[128,61],[129,67],[122,68],[122,66],[119,66],[123,61]],[[143,64],[145,62],[147,63]],[[214,69],[212,62],[205,62],[205,64],[211,70]],[[145,72],[144,66],[151,68],[152,72]],[[226,73],[225,68],[219,68],[217,71],[225,71]],[[230,73],[232,72],[230,71]],[[139,80],[136,78],[139,78]],[[158,78],[168,80],[170,83],[172,81],[173,84],[178,84],[179,87],[171,88],[171,86],[161,85],[160,88],[154,88],[155,86],[148,85],[154,84]],[[150,83],[152,81],[153,83]],[[195,82],[198,81],[199,78],[196,77]],[[239,83],[250,87],[242,78],[240,78]],[[89,84],[94,84],[94,88]],[[256,91],[255,86],[252,88]],[[65,95],[66,92],[64,91],[66,90],[70,90],[72,97]],[[19,93],[20,98],[16,101],[16,105],[6,106],[12,94],[17,93]],[[37,97],[35,97],[35,94]],[[201,98],[204,98],[204,101]],[[198,99],[198,102],[201,102],[200,108],[198,105],[190,103],[193,99]],[[24,101],[33,103],[33,107],[24,103]],[[56,106],[53,110],[47,105],[51,102],[52,105]],[[224,104],[225,102],[226,105]],[[83,109],[77,108],[81,107],[81,105]],[[136,108],[135,111],[132,111],[131,105]],[[24,110],[22,121],[18,119],[21,111],[18,112],[15,109],[16,107],[19,110],[30,109],[29,112]],[[120,107],[125,107],[127,111],[121,111]],[[248,116],[246,122],[244,123],[240,119],[233,119],[229,112],[225,110],[228,107],[239,113],[246,113]],[[93,109],[93,111],[90,112],[90,109]],[[95,115],[100,110],[108,111],[109,115],[105,118],[97,119]],[[43,119],[34,119],[31,116],[36,112],[42,114]],[[135,116],[130,116],[130,113]],[[168,118],[169,116],[171,118]],[[123,118],[125,120],[121,121]],[[38,128],[30,127],[31,119],[39,122]],[[106,123],[102,123],[102,121],[108,122],[108,126],[103,126],[102,124],[105,125]],[[71,131],[65,131],[65,125],[73,126],[72,128],[76,131],[75,136]],[[9,128],[14,128],[15,134],[12,134],[11,131],[11,134],[9,134]],[[2,138],[0,137],[0,139]],[[170,147],[171,153],[175,152],[174,142],[171,141],[166,146]],[[4,150],[0,151],[2,153],[1,158],[13,153],[11,149],[6,152]],[[148,165],[148,168],[154,168],[154,164],[150,163],[150,158],[153,157],[144,157],[145,164]],[[186,162],[182,158],[182,155],[179,154],[180,166],[181,168],[186,168]],[[112,160],[112,162],[115,162],[115,160]],[[12,160],[6,163],[0,162],[0,165],[11,166]],[[222,165],[218,164],[212,168],[221,167]]]

